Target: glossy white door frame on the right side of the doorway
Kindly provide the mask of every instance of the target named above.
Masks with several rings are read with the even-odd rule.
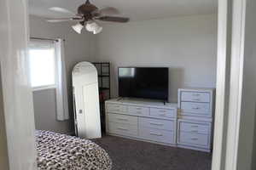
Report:
[[[247,0],[218,0],[218,68],[212,170],[236,170]]]

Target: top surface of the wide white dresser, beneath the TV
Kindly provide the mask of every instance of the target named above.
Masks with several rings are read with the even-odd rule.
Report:
[[[143,105],[143,106],[155,106],[160,108],[168,108],[168,109],[177,109],[177,103],[164,103],[160,100],[154,99],[108,99],[107,103],[115,103],[115,104],[122,104],[122,105]]]

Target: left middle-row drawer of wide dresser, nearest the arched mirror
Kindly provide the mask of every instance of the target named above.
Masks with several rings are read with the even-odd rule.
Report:
[[[108,113],[108,122],[118,122],[137,125],[137,116],[127,116]]]

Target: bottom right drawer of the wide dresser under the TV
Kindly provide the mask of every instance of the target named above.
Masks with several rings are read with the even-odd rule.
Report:
[[[154,128],[140,128],[139,137],[166,144],[174,144],[174,133]]]

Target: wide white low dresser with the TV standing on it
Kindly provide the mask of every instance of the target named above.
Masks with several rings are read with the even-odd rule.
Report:
[[[157,144],[177,144],[177,104],[146,99],[106,101],[107,133]]]

